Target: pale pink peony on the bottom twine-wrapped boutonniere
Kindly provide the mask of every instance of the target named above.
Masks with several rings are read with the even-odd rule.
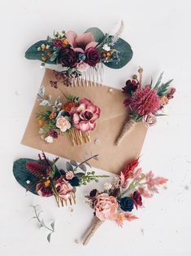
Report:
[[[102,193],[97,196],[94,203],[96,216],[104,221],[106,219],[115,220],[117,218],[118,202],[114,196]]]

